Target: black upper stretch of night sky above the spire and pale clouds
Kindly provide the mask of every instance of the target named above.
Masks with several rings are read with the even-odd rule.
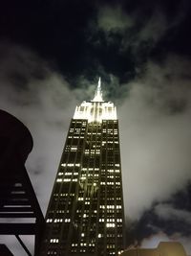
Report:
[[[189,11],[186,0],[8,1],[1,4],[0,37],[27,45],[72,84],[84,73],[91,80],[100,65],[129,81],[148,58],[189,48]]]

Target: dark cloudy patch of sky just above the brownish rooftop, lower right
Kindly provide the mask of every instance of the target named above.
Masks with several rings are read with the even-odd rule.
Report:
[[[189,195],[188,195],[189,194]],[[190,184],[166,201],[154,202],[138,221],[129,222],[127,245],[156,247],[159,241],[179,241],[190,252]],[[184,202],[185,205],[184,205]]]

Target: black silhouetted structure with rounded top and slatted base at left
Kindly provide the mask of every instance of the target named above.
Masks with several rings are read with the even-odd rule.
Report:
[[[28,255],[31,253],[19,235],[35,235],[34,254],[37,255],[44,217],[25,168],[32,151],[32,135],[3,110],[0,110],[0,124],[0,234],[15,235]],[[21,222],[22,219],[25,221]]]

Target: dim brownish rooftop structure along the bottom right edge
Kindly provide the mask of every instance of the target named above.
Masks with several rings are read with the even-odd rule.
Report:
[[[157,248],[133,248],[120,256],[186,256],[183,246],[178,242],[160,242]]]

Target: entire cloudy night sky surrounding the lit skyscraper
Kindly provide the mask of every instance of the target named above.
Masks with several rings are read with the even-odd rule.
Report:
[[[190,0],[2,1],[0,108],[32,132],[44,213],[74,107],[100,76],[117,105],[126,245],[180,241],[191,255],[190,34]]]

